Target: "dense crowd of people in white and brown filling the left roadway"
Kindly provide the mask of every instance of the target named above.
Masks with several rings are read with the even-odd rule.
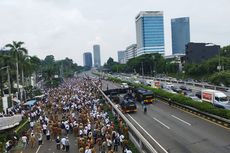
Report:
[[[58,88],[46,90],[45,98],[25,115],[30,130],[21,137],[24,148],[50,142],[57,150],[68,152],[75,145],[69,140],[74,136],[79,153],[131,153],[128,128],[116,117],[119,128],[115,129],[99,91],[88,77],[68,79]]]

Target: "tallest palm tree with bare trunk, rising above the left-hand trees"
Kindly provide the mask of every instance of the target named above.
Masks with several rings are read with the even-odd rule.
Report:
[[[12,55],[14,56],[14,58],[16,59],[16,77],[17,77],[17,92],[19,94],[19,67],[18,67],[18,63],[21,61],[21,57],[25,54],[28,53],[27,49],[22,47],[22,45],[24,44],[24,42],[16,42],[13,41],[12,44],[7,44],[5,47],[9,48],[9,50],[11,51]],[[18,97],[18,95],[17,95]]]

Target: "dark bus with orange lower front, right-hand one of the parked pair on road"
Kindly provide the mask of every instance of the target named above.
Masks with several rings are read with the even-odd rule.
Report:
[[[154,94],[151,90],[145,90],[143,88],[139,88],[135,92],[135,98],[139,102],[144,102],[144,104],[153,103]]]

